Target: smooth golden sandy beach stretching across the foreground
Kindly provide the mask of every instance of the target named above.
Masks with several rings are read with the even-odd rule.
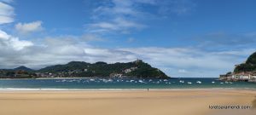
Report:
[[[255,90],[0,91],[0,115],[256,115]],[[255,103],[254,103],[255,104]]]

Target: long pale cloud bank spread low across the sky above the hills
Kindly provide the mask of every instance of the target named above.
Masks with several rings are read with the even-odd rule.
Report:
[[[237,63],[247,59],[255,49],[204,51],[195,48],[99,48],[72,37],[47,37],[39,43],[22,41],[2,32],[1,68],[29,66],[41,68],[64,64],[71,60],[87,62],[128,62],[142,59],[172,77],[218,77],[232,71]],[[12,43],[16,39],[17,43]],[[4,44],[4,45],[3,45]],[[19,45],[17,45],[19,44]],[[23,44],[23,46],[20,46]],[[26,44],[26,45],[24,45]],[[19,47],[15,47],[15,46]]]

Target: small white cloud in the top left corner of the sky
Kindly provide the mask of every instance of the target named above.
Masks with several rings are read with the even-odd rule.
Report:
[[[14,21],[14,8],[8,3],[0,2],[0,25],[8,24]]]

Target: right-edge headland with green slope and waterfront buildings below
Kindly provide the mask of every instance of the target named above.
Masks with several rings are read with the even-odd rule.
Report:
[[[224,81],[245,81],[256,83],[256,52],[250,55],[241,64],[235,65],[233,72],[219,75],[220,80]]]

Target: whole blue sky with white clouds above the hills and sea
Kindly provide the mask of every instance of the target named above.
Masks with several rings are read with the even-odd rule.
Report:
[[[217,78],[256,48],[254,0],[0,0],[0,68],[141,59]]]

